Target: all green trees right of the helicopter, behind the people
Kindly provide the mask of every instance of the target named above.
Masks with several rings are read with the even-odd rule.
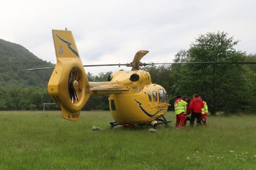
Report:
[[[201,34],[188,50],[180,50],[174,62],[256,62],[256,55],[236,51],[239,43],[228,33]],[[256,65],[179,64],[146,68],[155,83],[162,84],[170,95],[202,96],[211,114],[255,113]]]

